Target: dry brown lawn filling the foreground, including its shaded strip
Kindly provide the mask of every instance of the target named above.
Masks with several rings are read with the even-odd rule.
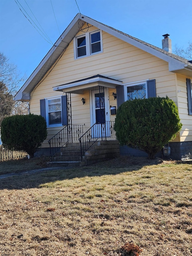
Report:
[[[191,187],[190,162],[144,158],[2,179],[1,255],[191,255]]]

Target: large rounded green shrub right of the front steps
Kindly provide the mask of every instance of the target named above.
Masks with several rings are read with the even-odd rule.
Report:
[[[168,97],[124,102],[114,125],[120,145],[143,150],[149,159],[154,159],[181,128],[177,106]]]

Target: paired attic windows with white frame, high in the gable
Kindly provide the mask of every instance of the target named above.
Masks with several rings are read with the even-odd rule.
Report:
[[[103,52],[101,30],[87,32],[74,38],[75,59]]]

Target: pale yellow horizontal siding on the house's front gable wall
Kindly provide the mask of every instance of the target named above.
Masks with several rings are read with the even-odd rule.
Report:
[[[96,29],[91,27],[88,32]],[[78,33],[78,35],[81,34],[84,33]],[[62,95],[62,92],[54,92],[52,87],[97,74],[120,80],[122,83],[155,79],[157,96],[166,97],[168,95],[177,104],[175,74],[169,72],[167,62],[106,32],[103,32],[102,37],[103,53],[80,59],[74,59],[74,47],[73,41],[71,41],[60,59],[52,66],[52,70],[47,72],[44,79],[31,94],[31,113],[40,114],[40,99]],[[106,102],[109,106],[117,106],[117,100],[114,100],[112,96],[113,92],[116,92],[116,89],[109,88],[109,101]],[[84,105],[81,101],[82,97],[85,98]],[[83,95],[71,94],[72,122],[73,124],[85,123],[87,129],[90,127],[89,101],[88,90],[84,91]],[[110,120],[114,121],[115,116],[110,115]],[[61,128],[48,128],[48,138],[50,138],[50,134],[55,135]]]

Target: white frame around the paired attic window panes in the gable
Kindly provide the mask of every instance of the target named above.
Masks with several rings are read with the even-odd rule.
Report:
[[[100,32],[101,51],[96,52],[96,53],[91,53],[91,34],[95,34],[97,32]],[[85,41],[86,41],[86,55],[77,57],[77,39],[81,38],[81,37],[84,37],[84,36],[85,36]],[[102,53],[103,52],[102,30],[94,30],[94,31],[87,32],[85,34],[82,34],[82,35],[79,35],[79,36],[73,38],[73,47],[74,47],[74,59],[81,59],[81,58],[92,56],[92,55],[95,55],[95,54],[98,54],[98,53]]]

